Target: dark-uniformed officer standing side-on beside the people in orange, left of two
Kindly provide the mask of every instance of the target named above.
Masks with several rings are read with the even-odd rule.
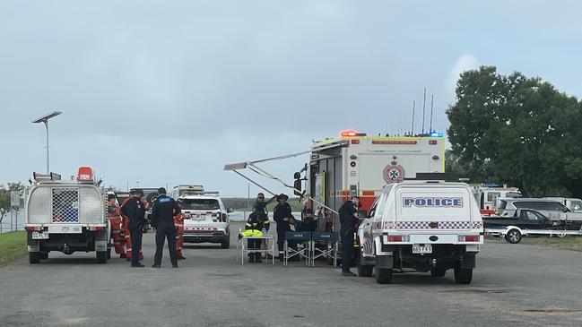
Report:
[[[131,248],[127,249],[127,254],[131,252],[132,267],[143,267],[143,264],[139,262],[139,253],[142,249],[142,228],[147,220],[145,219],[146,206],[141,200],[142,196],[143,191],[133,191],[131,197],[121,207],[121,213],[127,218],[127,229],[129,229],[131,237]]]

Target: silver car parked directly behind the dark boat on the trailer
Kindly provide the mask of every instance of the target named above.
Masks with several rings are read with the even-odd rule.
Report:
[[[540,198],[500,199],[496,213],[502,217],[514,217],[518,209],[540,211],[551,220],[582,220],[582,212],[570,211],[556,200]]]

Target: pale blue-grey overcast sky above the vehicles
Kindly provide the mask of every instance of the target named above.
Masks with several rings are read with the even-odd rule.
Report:
[[[53,110],[63,115],[50,123],[52,171],[91,165],[124,189],[246,195],[225,163],[348,128],[408,131],[424,87],[445,131],[458,74],[479,65],[579,98],[580,13],[574,0],[4,0],[0,184],[45,170],[44,127],[30,120]],[[307,159],[264,167],[291,180]]]

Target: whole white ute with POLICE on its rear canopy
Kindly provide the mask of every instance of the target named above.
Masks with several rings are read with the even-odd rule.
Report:
[[[360,215],[364,215],[360,212]],[[358,275],[380,284],[412,268],[433,277],[455,271],[457,284],[473,279],[483,224],[472,189],[464,183],[405,180],[386,185],[358,229]]]

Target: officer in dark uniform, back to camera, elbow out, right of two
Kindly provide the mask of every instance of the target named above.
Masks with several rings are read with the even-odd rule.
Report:
[[[158,189],[158,199],[153,202],[152,226],[156,228],[156,253],[153,256],[152,268],[161,268],[161,253],[165,239],[168,239],[169,261],[172,268],[178,268],[178,255],[176,254],[176,225],[174,216],[180,214],[182,209],[178,202],[166,194],[166,189]]]

